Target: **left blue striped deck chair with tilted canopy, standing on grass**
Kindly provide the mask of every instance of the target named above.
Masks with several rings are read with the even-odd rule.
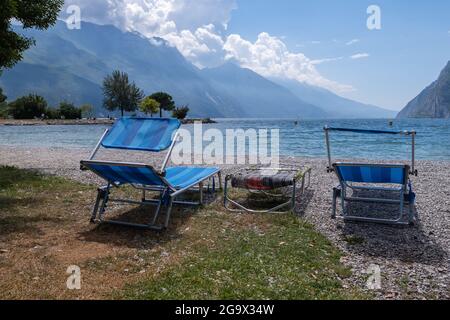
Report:
[[[201,205],[205,181],[212,182],[215,191],[215,176],[221,175],[218,168],[172,167],[166,168],[173,147],[178,138],[181,123],[176,119],[159,118],[122,118],[110,130],[106,130],[89,160],[81,161],[82,170],[90,170],[103,178],[107,184],[98,189],[97,199],[92,211],[91,222],[118,224],[130,227],[163,230],[169,225],[173,204]],[[160,170],[143,163],[111,162],[94,160],[100,147],[134,151],[161,152],[168,150]],[[212,180],[212,181],[211,181]],[[112,188],[131,185],[142,191],[142,201],[114,199],[110,197]],[[196,189],[195,187],[198,188]],[[197,202],[177,201],[176,198],[189,190],[198,190]],[[159,199],[146,199],[146,191],[159,192]],[[149,224],[137,224],[123,221],[105,220],[104,214],[108,202],[125,204],[156,205],[156,211]],[[167,208],[164,224],[157,225],[163,207]]]

